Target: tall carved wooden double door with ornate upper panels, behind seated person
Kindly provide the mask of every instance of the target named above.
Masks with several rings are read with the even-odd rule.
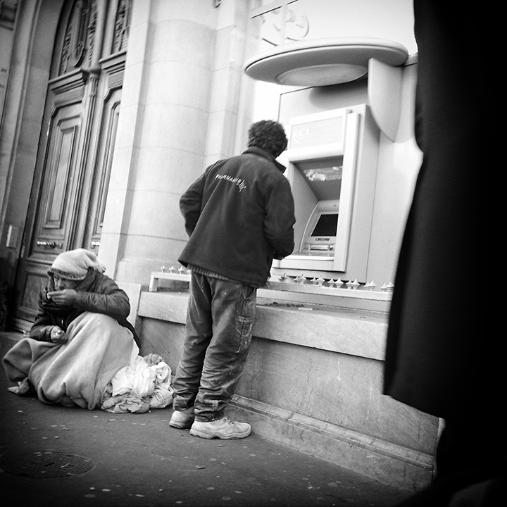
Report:
[[[27,329],[34,320],[58,253],[81,247],[99,253],[128,8],[128,1],[105,0],[74,0],[63,7],[15,281],[18,328]],[[105,29],[99,30],[99,23]]]

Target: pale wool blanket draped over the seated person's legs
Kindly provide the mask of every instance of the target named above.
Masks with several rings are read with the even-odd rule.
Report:
[[[44,403],[99,408],[109,382],[139,348],[126,327],[101,313],[82,313],[66,334],[64,344],[21,339],[2,359],[7,377],[31,384]]]

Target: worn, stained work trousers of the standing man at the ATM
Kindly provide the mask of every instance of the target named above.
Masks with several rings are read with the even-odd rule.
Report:
[[[173,381],[177,411],[223,418],[251,344],[257,289],[192,272],[183,353]]]

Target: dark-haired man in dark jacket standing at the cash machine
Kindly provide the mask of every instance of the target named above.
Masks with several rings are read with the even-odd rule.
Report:
[[[173,427],[205,439],[242,439],[248,423],[225,417],[243,373],[256,292],[273,258],[294,249],[294,199],[284,166],[280,123],[249,128],[241,155],[209,166],[180,199],[189,241],[180,258],[192,270],[183,353],[174,387]]]

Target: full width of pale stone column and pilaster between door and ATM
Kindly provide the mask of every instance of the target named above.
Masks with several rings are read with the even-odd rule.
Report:
[[[118,282],[180,267],[182,192],[246,147],[249,11],[249,1],[134,0],[99,252]]]

